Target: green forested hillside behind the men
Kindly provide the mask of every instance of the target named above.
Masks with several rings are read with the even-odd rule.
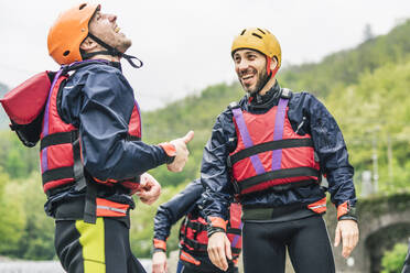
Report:
[[[375,155],[380,193],[410,188],[410,36],[407,33],[410,22],[356,48],[332,54],[319,64],[291,66],[279,74],[281,86],[314,92],[335,116],[349,149],[358,189],[363,171],[374,170]],[[143,140],[148,143],[169,141],[188,130],[195,131],[195,138],[190,143],[191,157],[184,172],[171,174],[165,167],[150,172],[164,190],[153,206],[138,204],[132,212],[131,244],[138,256],[150,255],[157,206],[198,177],[203,146],[217,114],[242,96],[238,84],[220,84],[143,113]],[[0,134],[0,254],[52,259],[53,222],[42,211],[45,197],[37,172],[37,148],[23,148],[10,132]],[[171,250],[177,245],[176,228],[169,240]]]

